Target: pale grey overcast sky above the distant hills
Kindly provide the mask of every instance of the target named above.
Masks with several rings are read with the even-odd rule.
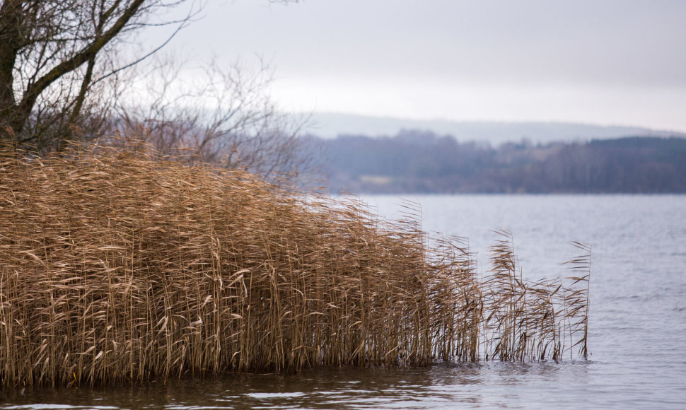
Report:
[[[212,0],[173,44],[291,111],[686,131],[684,0]]]

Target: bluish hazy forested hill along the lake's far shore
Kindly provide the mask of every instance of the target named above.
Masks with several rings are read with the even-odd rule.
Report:
[[[331,192],[686,192],[686,139],[500,146],[403,131],[322,140]]]

